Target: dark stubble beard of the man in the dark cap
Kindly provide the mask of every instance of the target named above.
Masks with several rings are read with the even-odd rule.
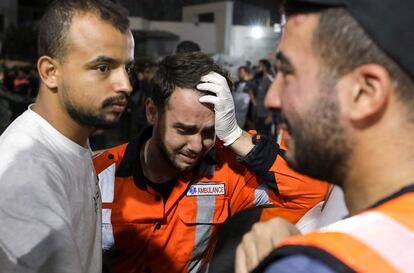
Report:
[[[300,173],[342,186],[351,146],[340,124],[337,90],[327,83],[322,88],[313,111],[303,115],[308,117],[306,120],[297,114],[291,115],[290,120],[295,124],[291,127],[294,154],[287,163]]]

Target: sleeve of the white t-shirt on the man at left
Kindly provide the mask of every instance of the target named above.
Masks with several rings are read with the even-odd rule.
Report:
[[[83,272],[64,177],[53,162],[20,159],[0,177],[0,264],[10,272]]]

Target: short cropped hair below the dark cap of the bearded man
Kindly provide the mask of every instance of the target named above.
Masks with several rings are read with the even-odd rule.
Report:
[[[399,99],[409,109],[414,108],[414,82],[411,76],[367,35],[345,8],[330,8],[321,12],[319,25],[313,34],[313,48],[325,65],[324,72],[333,79],[363,64],[383,66],[390,74]]]

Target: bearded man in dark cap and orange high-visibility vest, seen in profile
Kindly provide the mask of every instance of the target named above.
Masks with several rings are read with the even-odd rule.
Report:
[[[409,0],[287,2],[266,102],[282,110],[290,166],[342,187],[351,217],[283,241],[254,272],[414,272],[413,9]],[[238,273],[266,252],[255,242],[274,240],[260,236],[269,225],[294,232],[277,220],[256,226],[239,246]]]

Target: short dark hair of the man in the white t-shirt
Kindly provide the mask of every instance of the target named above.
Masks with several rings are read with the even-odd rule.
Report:
[[[67,50],[66,36],[76,13],[95,12],[103,21],[120,32],[129,29],[126,9],[110,0],[55,0],[46,9],[39,23],[38,54],[63,58]]]

